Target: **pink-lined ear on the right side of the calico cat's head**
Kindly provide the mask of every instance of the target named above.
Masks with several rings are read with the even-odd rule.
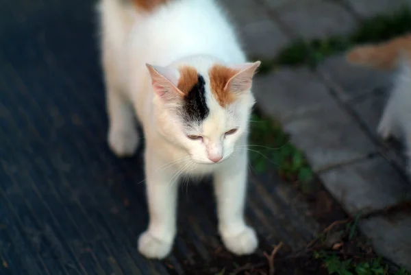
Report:
[[[231,66],[230,68],[238,71],[238,73],[228,80],[227,84],[225,84],[225,90],[237,94],[249,91],[253,82],[253,76],[257,68],[260,67],[260,64],[260,61],[256,61]]]

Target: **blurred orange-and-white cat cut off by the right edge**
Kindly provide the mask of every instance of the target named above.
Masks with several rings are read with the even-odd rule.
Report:
[[[377,132],[382,139],[405,139],[411,157],[411,34],[404,34],[384,43],[360,45],[347,53],[352,64],[382,70],[397,69],[393,91],[384,108]],[[408,174],[411,176],[411,160]]]

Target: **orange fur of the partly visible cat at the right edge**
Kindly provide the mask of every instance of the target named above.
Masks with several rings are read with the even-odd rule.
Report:
[[[385,43],[354,47],[347,53],[347,60],[366,67],[393,69],[401,52],[411,57],[411,34],[393,38]]]

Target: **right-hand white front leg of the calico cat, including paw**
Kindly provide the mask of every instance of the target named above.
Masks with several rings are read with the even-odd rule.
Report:
[[[241,151],[214,174],[219,232],[225,247],[237,255],[251,254],[258,247],[256,232],[244,218],[247,153]]]

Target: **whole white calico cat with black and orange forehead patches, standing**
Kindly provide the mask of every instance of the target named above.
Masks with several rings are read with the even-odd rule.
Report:
[[[214,177],[219,234],[237,255],[258,248],[245,222],[247,139],[260,61],[247,62],[214,0],[100,0],[101,63],[116,156],[145,136],[149,225],[138,251],[164,259],[177,232],[182,176]],[[136,115],[136,116],[135,116]]]

